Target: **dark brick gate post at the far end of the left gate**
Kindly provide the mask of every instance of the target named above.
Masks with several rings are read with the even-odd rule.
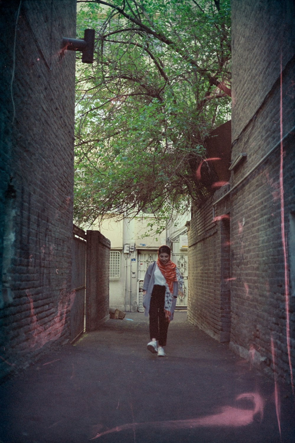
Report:
[[[86,331],[96,330],[109,316],[111,242],[100,231],[87,230]]]

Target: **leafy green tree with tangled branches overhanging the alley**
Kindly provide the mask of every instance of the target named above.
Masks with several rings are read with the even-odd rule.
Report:
[[[165,221],[207,192],[195,169],[230,113],[230,0],[79,3],[96,61],[77,63],[75,219]]]

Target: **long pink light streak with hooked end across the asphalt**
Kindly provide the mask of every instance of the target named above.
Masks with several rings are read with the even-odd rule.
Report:
[[[154,427],[163,430],[176,429],[192,429],[201,426],[231,426],[240,427],[246,426],[253,422],[254,416],[259,414],[261,419],[263,417],[264,400],[257,392],[247,392],[239,395],[236,400],[252,400],[254,403],[253,409],[233,408],[231,406],[224,406],[221,412],[210,416],[199,417],[189,420],[171,420],[171,421],[152,421],[147,423],[128,423],[121,426],[113,427],[107,431],[99,432],[90,440],[97,439],[103,435],[112,434],[114,432],[126,431],[129,429]]]

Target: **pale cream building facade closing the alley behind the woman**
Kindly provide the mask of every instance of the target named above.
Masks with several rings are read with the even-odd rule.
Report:
[[[143,312],[142,285],[149,264],[157,260],[161,245],[172,248],[172,261],[184,276],[184,297],[177,300],[178,309],[187,307],[187,236],[186,227],[165,229],[156,235],[149,223],[153,216],[144,214],[135,218],[104,218],[92,229],[110,239],[110,307],[121,311]],[[169,237],[168,235],[169,234]]]

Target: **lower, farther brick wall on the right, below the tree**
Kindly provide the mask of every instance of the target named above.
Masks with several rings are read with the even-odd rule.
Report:
[[[218,190],[215,196],[224,192]],[[229,216],[225,208],[225,217],[213,220],[212,203],[210,198],[194,207],[189,225],[188,321],[225,342],[230,338]]]

